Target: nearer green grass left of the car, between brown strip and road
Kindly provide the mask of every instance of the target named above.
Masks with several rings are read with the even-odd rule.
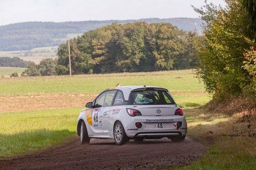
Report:
[[[74,136],[81,109],[0,114],[0,157],[57,145]]]

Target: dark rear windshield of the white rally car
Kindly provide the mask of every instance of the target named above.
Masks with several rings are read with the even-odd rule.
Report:
[[[130,94],[129,105],[173,105],[175,102],[167,91],[146,90],[133,91]]]

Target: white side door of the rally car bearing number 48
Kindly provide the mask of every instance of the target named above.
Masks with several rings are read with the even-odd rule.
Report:
[[[94,136],[103,136],[108,134],[107,114],[116,91],[106,91],[99,95],[94,101],[92,113],[92,130]]]

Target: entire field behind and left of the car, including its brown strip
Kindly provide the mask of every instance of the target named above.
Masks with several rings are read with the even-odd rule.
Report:
[[[193,70],[2,78],[0,156],[56,145],[75,135],[76,118],[86,101],[118,82],[165,87],[182,107],[201,106],[210,99]]]

